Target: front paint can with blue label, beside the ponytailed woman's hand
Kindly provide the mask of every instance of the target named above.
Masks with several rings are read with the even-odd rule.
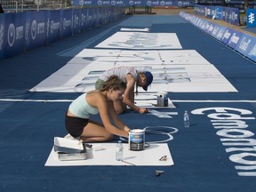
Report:
[[[134,151],[144,150],[145,148],[145,131],[133,129],[129,131],[128,148]]]

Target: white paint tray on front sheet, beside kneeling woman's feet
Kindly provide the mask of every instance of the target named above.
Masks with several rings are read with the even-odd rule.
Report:
[[[54,151],[58,153],[60,161],[86,159],[85,143],[79,140],[68,140],[65,138],[55,137]]]

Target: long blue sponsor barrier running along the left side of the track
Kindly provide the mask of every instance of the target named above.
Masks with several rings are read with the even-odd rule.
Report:
[[[123,7],[112,6],[1,14],[0,60],[123,16]]]

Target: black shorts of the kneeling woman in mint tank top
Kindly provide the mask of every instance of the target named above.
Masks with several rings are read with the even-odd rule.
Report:
[[[89,122],[89,119],[84,119],[75,116],[67,116],[65,117],[65,125],[68,133],[76,138],[81,136],[84,131],[84,126],[86,126]]]

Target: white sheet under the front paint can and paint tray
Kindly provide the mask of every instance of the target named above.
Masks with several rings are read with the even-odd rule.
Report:
[[[98,145],[98,146],[97,146]],[[92,148],[87,149],[87,159],[60,161],[58,154],[52,148],[45,166],[84,166],[84,165],[135,165],[135,166],[171,166],[173,165],[171,152],[167,143],[151,144],[142,151],[131,151],[128,144],[124,146],[124,162],[116,161],[116,143],[95,143]],[[162,156],[167,156],[166,161],[160,161]]]

